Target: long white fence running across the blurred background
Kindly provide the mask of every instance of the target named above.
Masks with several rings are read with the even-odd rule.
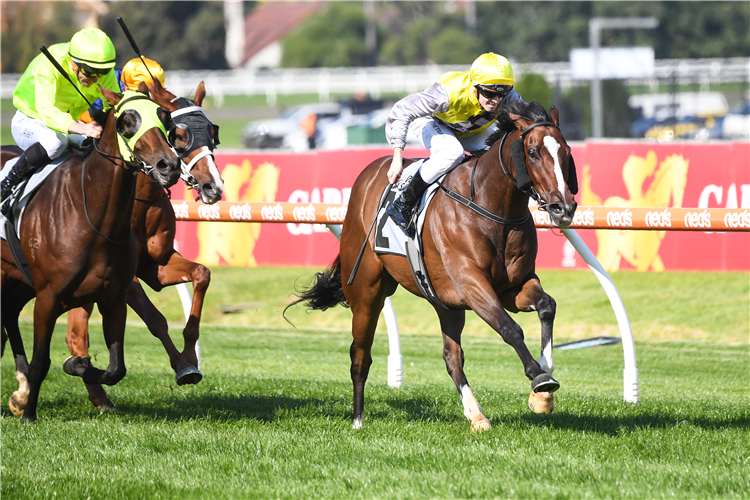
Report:
[[[328,100],[331,94],[368,94],[378,98],[383,93],[408,94],[431,85],[446,71],[465,71],[461,66],[377,66],[372,68],[316,68],[226,71],[167,71],[169,89],[177,95],[191,94],[201,80],[208,95],[221,105],[224,96],[264,95],[275,104],[278,95],[318,94]],[[574,80],[568,62],[514,63],[516,79],[525,73],[543,75],[551,85],[561,88],[583,83]],[[0,75],[0,98],[10,98],[18,74]],[[713,84],[742,83],[750,85],[750,58],[727,59],[659,59],[654,78],[628,80],[629,84],[646,84],[651,88],[671,84],[700,84],[704,90]]]

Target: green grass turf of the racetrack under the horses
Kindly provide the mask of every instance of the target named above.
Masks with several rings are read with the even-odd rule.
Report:
[[[100,414],[67,357],[58,323],[39,421],[0,410],[0,498],[747,498],[750,307],[746,274],[613,273],[633,324],[641,402],[622,401],[622,347],[555,352],[552,415],[526,407],[513,350],[469,314],[466,373],[493,423],[471,434],[442,361],[429,306],[402,291],[404,386],[386,385],[379,327],[365,426],[351,429],[350,313],[290,309],[304,268],[213,270],[202,328],[203,381],[177,387],[134,315],[128,375]],[[558,340],[617,334],[590,273],[543,272]],[[598,288],[597,288],[598,287]],[[171,321],[177,294],[152,294]],[[701,304],[707,304],[701,307]],[[240,312],[223,314],[221,306]],[[28,311],[25,311],[26,315]],[[524,318],[525,316],[525,318]],[[518,315],[532,353],[538,321]],[[522,319],[523,318],[523,319]],[[22,322],[30,351],[31,324]],[[179,336],[179,325],[172,327]],[[92,324],[94,363],[106,364]],[[8,350],[9,351],[9,350]],[[15,390],[10,353],[0,395]]]

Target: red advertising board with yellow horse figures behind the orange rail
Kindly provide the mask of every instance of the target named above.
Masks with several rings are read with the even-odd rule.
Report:
[[[584,206],[743,208],[750,211],[750,144],[574,144]],[[227,152],[216,162],[228,201],[346,203],[359,172],[387,148],[310,153]],[[406,156],[426,156],[407,150]],[[179,192],[177,192],[179,191]],[[173,188],[173,199],[192,192]],[[750,270],[750,232],[578,230],[607,270]],[[557,230],[539,230],[537,265],[585,269]],[[338,242],[322,224],[180,222],[177,246],[206,265],[322,267]]]

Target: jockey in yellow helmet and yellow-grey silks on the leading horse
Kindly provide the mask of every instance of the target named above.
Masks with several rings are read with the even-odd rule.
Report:
[[[485,141],[497,131],[495,121],[503,100],[521,100],[513,84],[508,60],[488,52],[479,56],[469,71],[445,73],[431,87],[393,106],[385,127],[393,148],[388,181],[393,184],[401,177],[408,130],[430,151],[430,158],[387,209],[407,235],[414,234],[411,220],[427,187],[457,167],[465,151],[487,148]]]

